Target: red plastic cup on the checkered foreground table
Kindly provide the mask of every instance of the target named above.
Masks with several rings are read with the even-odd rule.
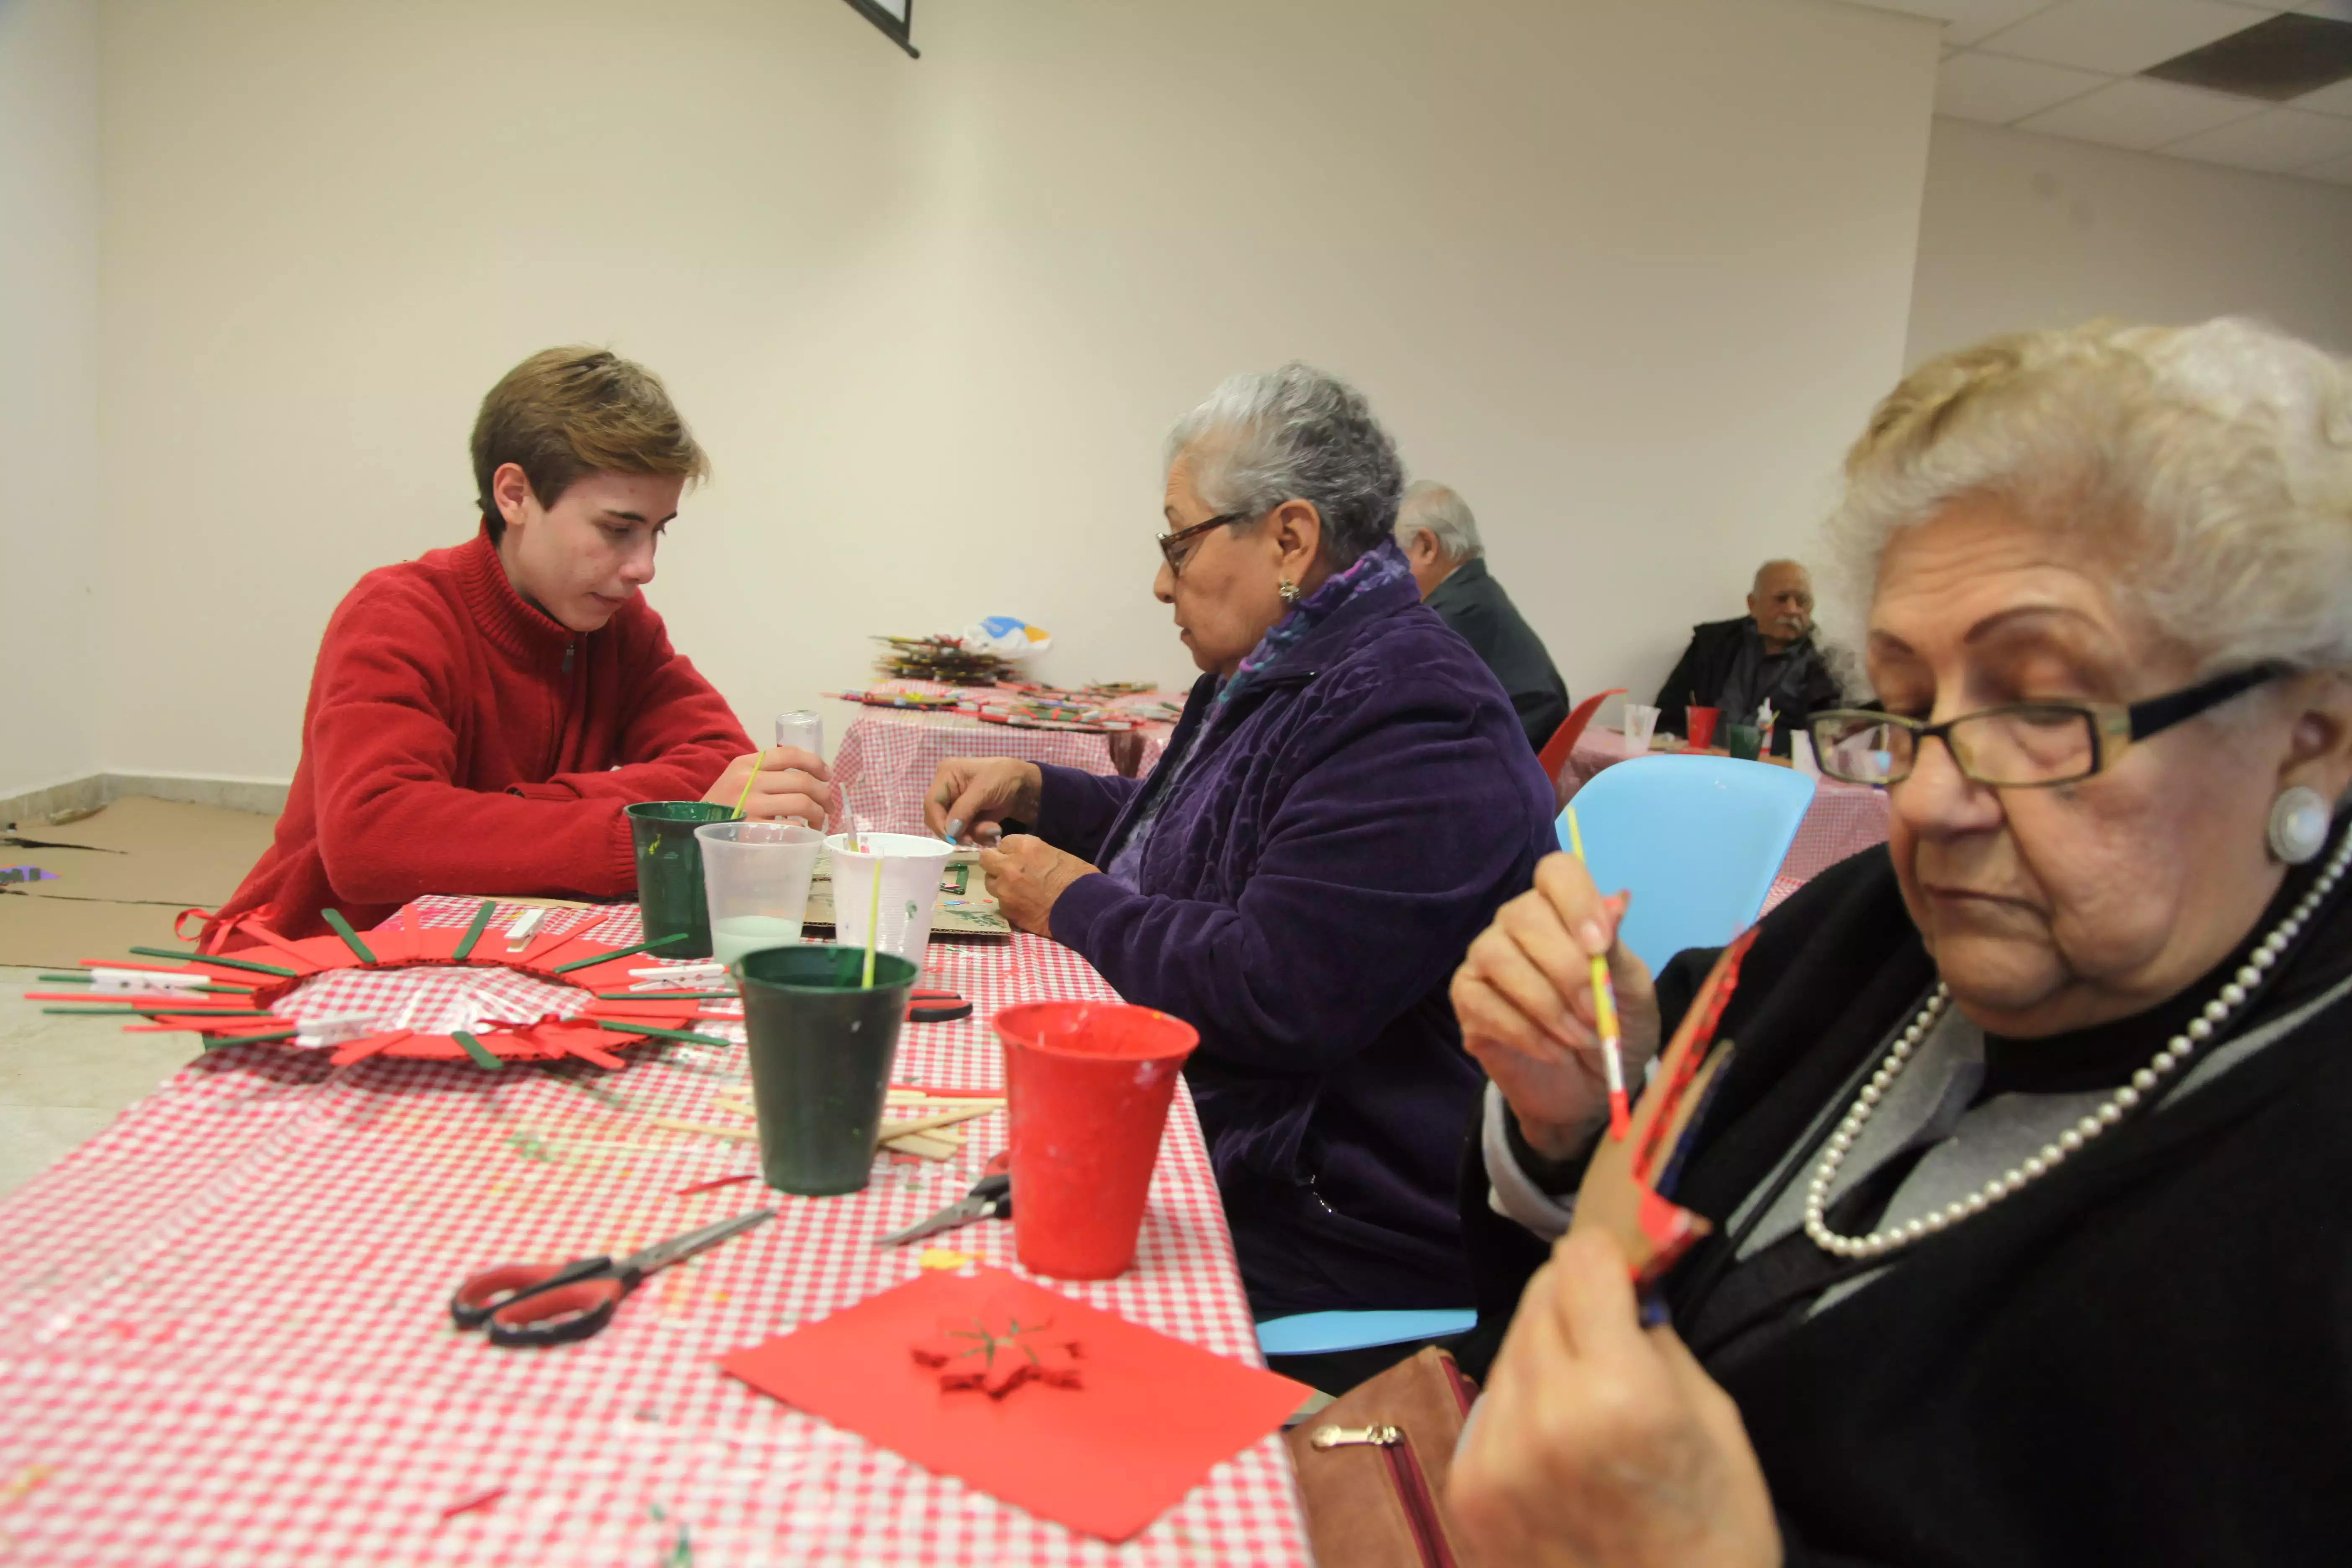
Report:
[[[1054,1279],[1124,1274],[1176,1072],[1200,1032],[1124,1001],[1023,1001],[995,1025],[1014,1124],[1014,1255]]]

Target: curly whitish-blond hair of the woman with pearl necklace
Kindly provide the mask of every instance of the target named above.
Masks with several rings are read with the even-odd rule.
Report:
[[[1886,545],[1992,498],[2114,564],[2114,590],[2206,672],[2352,670],[2352,364],[2258,322],[2093,322],[1915,369],[1846,454],[1839,590]]]

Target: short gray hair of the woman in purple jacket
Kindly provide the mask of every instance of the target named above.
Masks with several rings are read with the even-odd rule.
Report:
[[[1218,512],[1261,517],[1284,501],[1322,515],[1322,559],[1341,571],[1388,538],[1404,494],[1397,442],[1352,386],[1310,364],[1244,371],[1169,430],[1192,489]]]

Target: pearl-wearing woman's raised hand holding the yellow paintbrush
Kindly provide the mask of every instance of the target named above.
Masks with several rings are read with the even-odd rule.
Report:
[[[1569,1159],[1609,1119],[1609,1081],[1592,1004],[1592,954],[1609,957],[1628,1086],[1658,1056],[1658,990],[1616,940],[1628,896],[1602,898],[1583,860],[1536,865],[1536,886],[1501,910],[1454,971],[1463,1048],[1510,1103],[1529,1147]]]

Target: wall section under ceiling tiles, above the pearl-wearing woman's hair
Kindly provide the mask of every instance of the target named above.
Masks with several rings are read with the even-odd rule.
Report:
[[[2352,350],[2352,190],[1936,120],[1910,362],[2023,327],[2225,313]]]

